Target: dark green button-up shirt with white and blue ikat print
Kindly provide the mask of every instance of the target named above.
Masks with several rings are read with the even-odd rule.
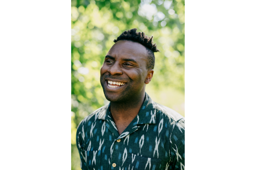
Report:
[[[119,135],[110,104],[85,117],[76,145],[82,170],[184,170],[185,120],[146,93],[139,114]]]

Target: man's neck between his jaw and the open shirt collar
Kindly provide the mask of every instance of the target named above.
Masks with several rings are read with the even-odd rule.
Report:
[[[132,98],[132,100],[122,103],[110,102],[111,115],[114,121],[132,122],[132,120],[138,115],[140,107],[145,99],[145,91],[140,96]]]

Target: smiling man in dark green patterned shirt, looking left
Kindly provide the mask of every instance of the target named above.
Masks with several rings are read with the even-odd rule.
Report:
[[[184,117],[145,92],[154,73],[152,37],[124,31],[100,70],[110,103],[80,122],[76,143],[83,170],[185,168]]]

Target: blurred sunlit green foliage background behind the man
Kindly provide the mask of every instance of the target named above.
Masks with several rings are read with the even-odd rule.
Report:
[[[157,103],[185,116],[184,0],[71,1],[71,170],[81,170],[76,127],[97,108],[108,104],[100,85],[100,67],[123,31],[154,36],[154,76],[146,92]]]

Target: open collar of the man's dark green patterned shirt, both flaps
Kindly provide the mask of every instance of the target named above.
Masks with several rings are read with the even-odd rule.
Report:
[[[110,103],[102,107],[98,113],[98,119],[107,120],[108,116],[112,117],[109,108]],[[137,120],[137,124],[156,124],[156,103],[148,96],[147,93],[137,117],[139,119]]]

